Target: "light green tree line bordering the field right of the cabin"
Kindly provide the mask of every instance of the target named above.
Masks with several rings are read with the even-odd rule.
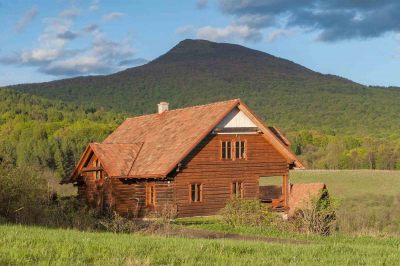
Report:
[[[400,139],[317,131],[297,132],[291,139],[293,151],[308,168],[400,170]]]

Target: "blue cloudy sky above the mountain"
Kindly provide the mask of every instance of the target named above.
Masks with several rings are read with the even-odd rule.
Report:
[[[0,0],[0,85],[113,73],[186,38],[400,86],[398,0]]]

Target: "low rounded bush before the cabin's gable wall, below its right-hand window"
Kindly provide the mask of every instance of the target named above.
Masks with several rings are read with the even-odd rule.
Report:
[[[233,199],[221,210],[222,221],[230,226],[271,225],[274,215],[258,200]]]

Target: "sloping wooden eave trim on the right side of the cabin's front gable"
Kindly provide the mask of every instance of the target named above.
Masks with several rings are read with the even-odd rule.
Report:
[[[283,157],[286,158],[287,162],[294,163],[297,168],[299,169],[305,169],[303,163],[294,155],[288,147],[286,147],[273,132],[271,132],[266,125],[264,125],[262,120],[253,112],[251,109],[244,104],[243,102],[240,102],[238,105],[239,110],[241,110],[243,113],[245,113],[252,121],[255,123],[261,131],[264,133],[263,136],[264,138],[269,141],[272,146],[275,147],[275,149],[283,155]]]

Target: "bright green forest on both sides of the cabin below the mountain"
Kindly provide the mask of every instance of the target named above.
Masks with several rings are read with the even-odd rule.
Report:
[[[89,142],[101,142],[133,116],[6,89],[0,90],[0,113],[2,164],[50,170],[58,178],[70,174]],[[284,123],[280,128],[308,168],[400,169],[398,134],[296,130]]]

